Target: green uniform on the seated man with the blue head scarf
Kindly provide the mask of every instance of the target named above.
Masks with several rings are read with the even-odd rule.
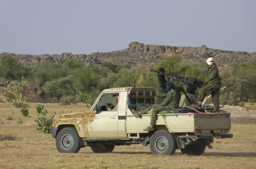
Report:
[[[167,93],[167,97],[161,104],[152,104],[150,107],[148,107],[145,110],[140,111],[141,114],[145,114],[148,112],[152,107],[157,106],[157,108],[153,109],[152,111],[152,116],[151,116],[151,125],[155,125],[155,122],[157,121],[157,112],[160,112],[162,110],[172,110],[174,107],[179,106],[179,100],[180,100],[180,95],[175,92],[174,89],[171,89]]]

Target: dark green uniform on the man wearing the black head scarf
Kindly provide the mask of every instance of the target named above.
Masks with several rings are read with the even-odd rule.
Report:
[[[160,77],[158,76],[155,78],[154,87],[155,87],[155,94],[157,95],[156,104],[161,104],[167,96],[168,92],[165,89],[166,88],[165,82],[166,81],[161,80]]]

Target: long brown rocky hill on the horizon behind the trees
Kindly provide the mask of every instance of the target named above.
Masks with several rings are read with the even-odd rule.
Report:
[[[131,64],[146,65],[148,63],[158,63],[166,57],[179,54],[184,60],[194,60],[195,62],[202,62],[208,56],[215,57],[217,64],[228,64],[231,62],[243,63],[247,60],[256,61],[256,52],[247,53],[245,51],[225,51],[207,48],[205,45],[201,47],[175,47],[166,45],[145,45],[138,42],[132,42],[129,47],[119,51],[111,51],[107,53],[91,53],[91,54],[14,54],[1,53],[0,58],[5,54],[11,54],[13,57],[18,57],[20,63],[25,66],[34,65],[41,60],[50,60],[57,64],[62,64],[69,58],[77,59],[85,64],[85,66],[92,64],[101,64],[102,62],[113,62],[117,65]]]

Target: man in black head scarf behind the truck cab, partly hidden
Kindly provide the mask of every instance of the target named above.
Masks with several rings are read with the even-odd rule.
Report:
[[[165,73],[164,68],[159,68],[158,71]],[[154,81],[155,94],[157,95],[156,104],[161,104],[167,96],[168,92],[166,91],[165,83],[166,83],[165,76],[158,73]]]

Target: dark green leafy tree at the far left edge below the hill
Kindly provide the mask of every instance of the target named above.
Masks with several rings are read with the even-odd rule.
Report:
[[[0,63],[0,77],[17,80],[21,77],[27,78],[30,74],[29,67],[22,65],[18,58],[13,58],[9,54],[2,56]]]

